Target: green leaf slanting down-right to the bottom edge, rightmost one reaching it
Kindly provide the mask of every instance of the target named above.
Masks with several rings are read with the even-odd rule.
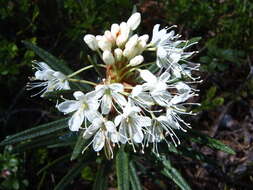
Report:
[[[157,159],[163,164],[163,167],[164,167],[162,170],[163,175],[172,179],[174,183],[176,183],[180,187],[180,189],[191,190],[190,186],[184,180],[184,178],[181,176],[178,170],[171,165],[170,160],[166,159],[165,156],[161,156],[161,157],[157,156]]]

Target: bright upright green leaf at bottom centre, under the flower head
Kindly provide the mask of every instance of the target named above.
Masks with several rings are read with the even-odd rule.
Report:
[[[118,190],[129,190],[128,155],[121,146],[116,155],[116,174]]]

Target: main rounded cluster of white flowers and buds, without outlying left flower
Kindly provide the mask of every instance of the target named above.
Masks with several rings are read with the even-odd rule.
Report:
[[[199,82],[192,74],[199,65],[187,61],[195,52],[185,51],[194,43],[178,40],[180,36],[171,28],[159,30],[159,24],[149,41],[149,35],[133,33],[140,22],[140,13],[134,13],[127,22],[112,24],[103,35],[85,35],[85,43],[104,62],[105,76],[98,84],[80,80],[94,85],[94,90],[76,91],[74,100],[64,99],[56,106],[60,112],[72,114],[70,130],[81,131],[83,138],[90,140],[87,147],[92,145],[98,153],[104,149],[109,159],[115,145],[129,144],[134,151],[144,152],[153,144],[156,153],[161,141],[177,146],[180,140],[175,131],[190,128],[181,115],[194,115],[187,106],[193,105],[188,100],[197,96],[190,84]],[[144,51],[154,52],[156,60],[145,63]],[[89,68],[92,66],[80,72]],[[64,81],[77,81],[71,79],[74,74]]]

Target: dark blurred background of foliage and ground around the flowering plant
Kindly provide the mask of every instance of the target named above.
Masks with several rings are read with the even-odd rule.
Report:
[[[253,2],[250,0],[0,0],[0,138],[53,121],[55,102],[31,97],[25,90],[33,75],[32,60],[40,59],[22,41],[32,42],[65,60],[73,69],[87,64],[87,33],[102,34],[112,23],[127,20],[134,5],[142,14],[139,33],[152,33],[154,24],[178,25],[182,39],[201,37],[199,54],[203,83],[198,85],[202,106],[192,127],[221,140],[236,154],[228,155],[192,143],[221,167],[171,155],[192,189],[253,189]],[[92,75],[90,76],[92,77]],[[184,145],[182,145],[184,146]],[[39,172],[64,148],[40,148],[0,153],[2,189],[52,189],[71,162]],[[145,190],[178,189],[145,163],[139,177]],[[71,189],[91,189],[94,166],[85,167]],[[113,176],[111,176],[113,178]],[[113,183],[113,179],[111,180]],[[113,184],[112,184],[113,186]]]

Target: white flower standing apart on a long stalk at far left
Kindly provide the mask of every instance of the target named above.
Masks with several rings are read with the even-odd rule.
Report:
[[[63,73],[54,71],[44,62],[36,62],[35,64],[36,66],[34,67],[37,71],[35,72],[35,77],[31,78],[31,80],[41,80],[41,82],[28,83],[28,90],[37,87],[44,87],[39,93],[37,93],[41,93],[41,97],[43,97],[47,92],[70,89],[67,77]]]

